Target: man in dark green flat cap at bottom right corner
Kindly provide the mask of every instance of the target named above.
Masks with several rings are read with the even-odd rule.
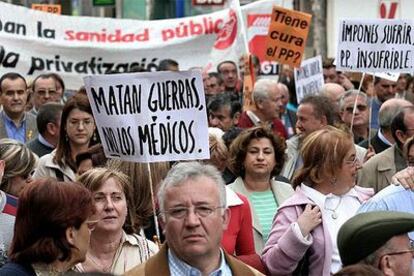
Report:
[[[413,230],[413,214],[390,211],[358,214],[338,233],[342,263],[368,264],[384,275],[411,276],[414,248],[407,233]]]

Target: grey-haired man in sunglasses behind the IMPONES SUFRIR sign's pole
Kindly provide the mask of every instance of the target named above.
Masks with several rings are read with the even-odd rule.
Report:
[[[356,101],[356,106],[355,106]],[[354,111],[355,106],[355,111]],[[347,91],[339,101],[341,120],[349,127],[352,126],[354,143],[358,144],[370,136],[368,97],[357,90]],[[371,136],[375,135],[371,129]]]

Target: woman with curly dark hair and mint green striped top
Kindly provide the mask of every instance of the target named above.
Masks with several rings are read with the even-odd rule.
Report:
[[[253,237],[260,254],[277,207],[293,194],[288,183],[275,181],[285,160],[285,144],[264,127],[244,130],[230,146],[230,168],[239,177],[230,188],[246,196],[252,206]]]

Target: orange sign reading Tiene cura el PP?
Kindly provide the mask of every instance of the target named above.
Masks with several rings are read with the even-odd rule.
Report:
[[[266,39],[266,59],[300,67],[312,15],[273,7]]]

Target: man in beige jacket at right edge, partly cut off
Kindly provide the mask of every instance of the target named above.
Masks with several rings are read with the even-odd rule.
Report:
[[[376,192],[391,184],[392,176],[407,167],[402,150],[408,138],[414,135],[414,107],[401,108],[391,123],[395,144],[364,163],[359,174],[359,185],[374,188]]]

